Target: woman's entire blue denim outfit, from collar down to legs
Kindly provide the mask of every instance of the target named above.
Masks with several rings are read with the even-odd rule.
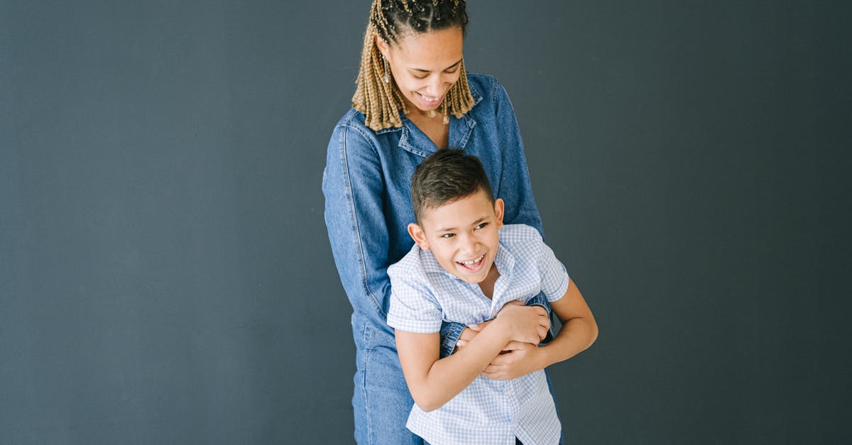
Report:
[[[541,228],[515,112],[497,79],[469,74],[474,107],[450,116],[449,147],[477,156],[496,197],[505,201],[505,223]],[[414,401],[396,354],[386,317],[387,269],[411,249],[414,222],[409,192],[415,168],[438,147],[408,118],[400,128],[374,131],[364,115],[349,110],[328,145],[323,194],[325,224],[337,272],[352,304],[357,349],[352,404],[359,443],[423,442],[406,430]],[[543,298],[538,298],[541,302]],[[546,303],[543,303],[546,305]],[[442,327],[442,354],[452,351],[464,326]]]

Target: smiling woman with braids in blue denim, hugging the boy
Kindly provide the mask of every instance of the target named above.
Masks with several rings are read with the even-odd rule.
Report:
[[[385,321],[387,268],[412,246],[406,224],[414,221],[409,187],[417,165],[446,147],[474,154],[506,202],[504,220],[541,231],[509,97],[496,79],[464,70],[467,23],[463,0],[374,0],[353,108],[329,142],[325,223],[354,309],[359,443],[423,443],[406,430],[413,401]],[[474,334],[442,329],[445,352],[463,331]]]

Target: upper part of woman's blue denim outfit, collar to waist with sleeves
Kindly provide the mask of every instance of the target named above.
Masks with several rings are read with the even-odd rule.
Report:
[[[468,82],[475,105],[462,118],[450,115],[448,147],[481,160],[495,197],[505,201],[504,223],[527,224],[541,233],[509,96],[491,76],[469,74]],[[354,109],[337,123],[328,145],[322,188],[337,272],[354,312],[389,332],[387,269],[414,243],[407,232],[408,223],[414,222],[411,178],[417,165],[437,150],[405,116],[399,128],[374,131]],[[541,303],[542,298],[534,301]],[[449,340],[442,344],[442,355],[452,351],[463,328],[442,329],[442,337]]]

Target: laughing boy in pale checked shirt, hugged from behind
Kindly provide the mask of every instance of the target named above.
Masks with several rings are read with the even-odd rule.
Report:
[[[415,402],[406,426],[434,445],[558,443],[543,369],[595,341],[589,306],[538,231],[503,226],[503,199],[479,159],[440,150],[417,167],[411,190],[416,245],[388,269],[388,324]],[[539,292],[562,323],[540,347],[548,323],[522,306]],[[490,322],[440,359],[441,321]],[[504,351],[521,354],[526,375],[492,365]]]

